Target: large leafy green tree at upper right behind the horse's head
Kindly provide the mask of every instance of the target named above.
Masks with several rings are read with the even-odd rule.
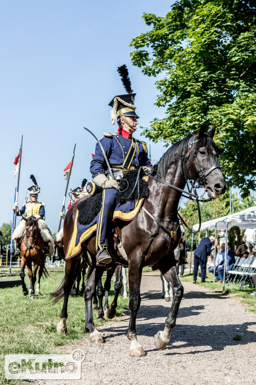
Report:
[[[254,0],[179,0],[165,17],[144,14],[151,29],[130,44],[132,64],[160,74],[166,108],[143,134],[168,145],[215,122],[223,172],[243,196],[256,187],[255,12]]]

